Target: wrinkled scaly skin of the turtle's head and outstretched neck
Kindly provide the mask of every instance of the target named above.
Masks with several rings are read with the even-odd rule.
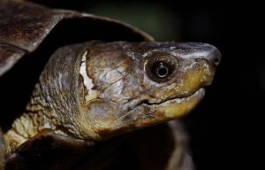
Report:
[[[191,112],[216,71],[220,53],[205,43],[86,42],[49,59],[26,111],[4,134],[11,153],[49,129],[103,141]],[[169,66],[164,78],[156,65]],[[162,72],[163,73],[163,72]]]

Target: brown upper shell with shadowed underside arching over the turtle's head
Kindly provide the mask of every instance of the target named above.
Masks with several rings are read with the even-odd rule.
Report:
[[[87,40],[152,41],[152,37],[125,23],[95,15],[51,10],[23,1],[0,1],[0,75],[51,34],[62,45]],[[55,40],[54,40],[55,41]]]

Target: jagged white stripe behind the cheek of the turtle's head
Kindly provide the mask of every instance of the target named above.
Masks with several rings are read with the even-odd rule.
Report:
[[[81,66],[80,66],[80,75],[83,77],[84,85],[88,91],[88,95],[86,95],[86,101],[93,100],[98,97],[98,91],[93,89],[94,84],[92,79],[90,79],[87,75],[87,50],[84,52],[82,56]]]

